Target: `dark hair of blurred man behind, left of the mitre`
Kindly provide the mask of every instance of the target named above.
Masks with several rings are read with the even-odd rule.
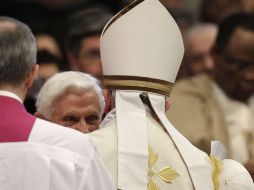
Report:
[[[100,34],[112,14],[102,8],[82,10],[72,15],[65,26],[65,49],[78,55],[83,38]]]

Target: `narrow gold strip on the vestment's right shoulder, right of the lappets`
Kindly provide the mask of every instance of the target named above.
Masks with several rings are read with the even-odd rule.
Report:
[[[222,170],[222,163],[216,156],[210,156],[213,172],[212,172],[212,179],[214,190],[219,190],[219,176]]]

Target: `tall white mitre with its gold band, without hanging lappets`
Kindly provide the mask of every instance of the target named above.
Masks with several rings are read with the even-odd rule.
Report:
[[[104,84],[168,96],[180,67],[181,32],[158,0],[137,0],[106,25],[101,36]]]

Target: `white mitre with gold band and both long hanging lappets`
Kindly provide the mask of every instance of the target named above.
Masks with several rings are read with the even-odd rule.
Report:
[[[100,48],[104,85],[116,91],[118,189],[147,189],[147,112],[140,98],[145,92],[195,189],[212,190],[207,163],[165,116],[165,97],[184,53],[181,32],[166,8],[159,0],[134,1],[105,26]]]

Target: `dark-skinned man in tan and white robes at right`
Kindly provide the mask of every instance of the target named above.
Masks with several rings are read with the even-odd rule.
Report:
[[[254,113],[248,105],[254,93],[254,16],[237,14],[224,20],[212,57],[211,75],[176,83],[167,116],[205,152],[210,152],[210,141],[218,139],[229,158],[254,168]]]

